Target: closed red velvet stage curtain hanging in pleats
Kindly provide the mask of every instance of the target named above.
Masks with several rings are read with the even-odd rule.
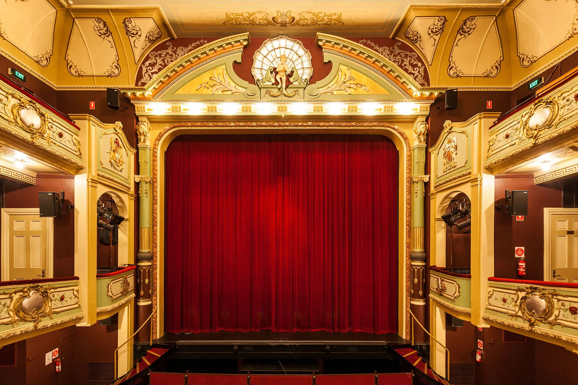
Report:
[[[391,140],[180,136],[165,186],[167,332],[397,332]]]

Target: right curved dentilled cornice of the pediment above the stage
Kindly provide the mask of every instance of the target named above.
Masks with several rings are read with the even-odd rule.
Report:
[[[397,54],[394,55],[391,50],[386,52],[385,49],[381,50],[383,47],[376,45],[375,49],[381,50],[383,52],[382,54],[379,51],[352,42],[351,40],[319,33],[316,35],[315,41],[324,52],[353,60],[371,69],[377,75],[394,85],[394,87],[406,95],[408,99],[434,99],[439,92],[444,91],[441,88],[431,90],[428,87],[425,89],[422,84],[414,79],[411,73],[406,72],[406,70],[400,66],[403,66],[407,58],[402,60]],[[401,55],[401,53],[399,53],[399,55]],[[399,65],[397,63],[399,63]],[[406,67],[408,68],[407,71],[416,71],[416,67],[413,67],[413,70],[410,69],[411,62],[409,62]],[[419,72],[419,70],[417,72]],[[417,76],[418,80],[419,78],[420,77]]]

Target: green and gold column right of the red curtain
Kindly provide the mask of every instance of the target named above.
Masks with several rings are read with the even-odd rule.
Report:
[[[425,247],[424,247],[424,230],[425,230],[425,212],[424,197],[425,183],[429,181],[429,175],[425,173],[425,138],[428,132],[428,125],[425,117],[420,116],[413,125],[414,146],[412,149],[412,253],[410,260],[411,268],[411,285],[412,313],[422,325],[425,325],[425,298],[427,288],[425,287]],[[416,342],[424,342],[425,333],[420,327],[416,328]]]

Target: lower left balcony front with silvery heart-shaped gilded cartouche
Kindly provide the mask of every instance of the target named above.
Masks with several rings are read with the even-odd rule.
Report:
[[[82,317],[78,277],[0,283],[0,346]]]

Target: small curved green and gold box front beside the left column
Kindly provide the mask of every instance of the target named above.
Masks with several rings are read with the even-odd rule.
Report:
[[[135,269],[97,274],[97,318],[108,318],[135,297]]]

